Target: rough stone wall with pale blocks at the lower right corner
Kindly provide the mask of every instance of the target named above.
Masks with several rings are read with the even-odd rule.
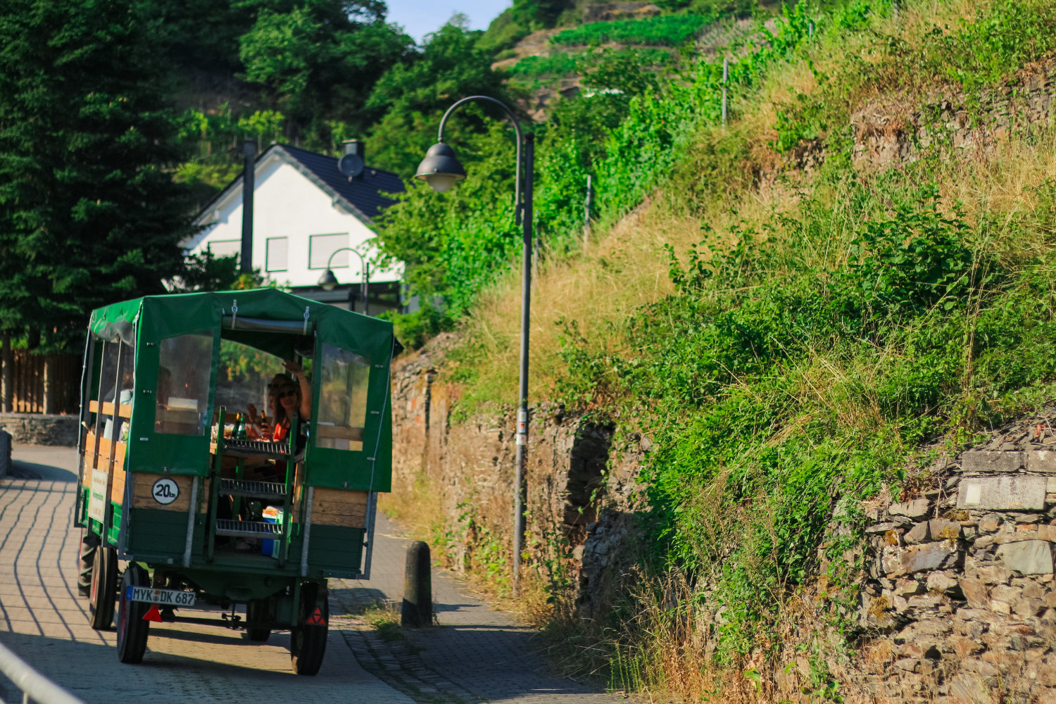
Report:
[[[1056,704],[1049,420],[939,460],[920,495],[866,507],[857,684],[872,701]]]

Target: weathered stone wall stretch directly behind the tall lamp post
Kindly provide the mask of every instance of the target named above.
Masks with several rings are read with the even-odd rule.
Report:
[[[441,336],[393,369],[393,492],[428,500],[442,522],[441,547],[464,569],[474,556],[509,556],[513,524],[511,413],[455,423],[456,385],[437,381],[454,339]],[[603,475],[612,427],[568,416],[555,404],[533,406],[526,473],[529,552],[570,558],[578,570],[588,528],[605,498]],[[617,472],[624,476],[626,472]],[[607,482],[612,483],[612,482]],[[619,486],[616,483],[614,486]],[[410,510],[414,510],[411,507]]]

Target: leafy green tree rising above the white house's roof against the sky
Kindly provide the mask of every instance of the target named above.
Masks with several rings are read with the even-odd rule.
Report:
[[[240,39],[244,77],[265,87],[289,118],[287,136],[328,141],[328,120],[364,129],[374,81],[413,40],[384,21],[371,0],[256,2],[256,22]]]

